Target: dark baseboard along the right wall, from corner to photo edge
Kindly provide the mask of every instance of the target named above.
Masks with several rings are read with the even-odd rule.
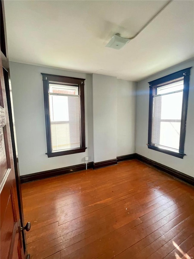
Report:
[[[169,175],[171,175],[171,176],[173,176],[173,177],[175,177],[179,180],[182,180],[182,181],[187,182],[191,185],[194,185],[194,177],[192,177],[192,176],[188,176],[188,175],[186,175],[182,172],[179,172],[175,169],[172,169],[171,167],[168,167],[166,165],[162,165],[158,162],[155,162],[155,161],[153,161],[149,158],[146,158],[145,156],[139,155],[139,154],[136,154],[136,159],[138,159],[141,162],[144,162],[147,165],[151,165],[151,166],[153,166],[153,167],[155,167],[155,168],[157,168],[157,169],[159,169],[159,170],[161,170],[161,171],[163,171],[163,172],[165,172],[165,173],[167,173],[167,174],[169,174]]]

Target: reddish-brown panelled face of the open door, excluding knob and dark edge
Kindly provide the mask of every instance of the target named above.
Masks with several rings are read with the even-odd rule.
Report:
[[[23,259],[24,252],[2,58],[0,62],[0,204],[1,258]]]

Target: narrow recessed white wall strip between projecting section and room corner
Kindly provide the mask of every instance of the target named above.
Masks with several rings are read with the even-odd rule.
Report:
[[[136,82],[117,80],[117,156],[135,153]]]

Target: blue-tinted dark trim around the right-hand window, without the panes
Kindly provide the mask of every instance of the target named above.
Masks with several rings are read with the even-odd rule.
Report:
[[[184,145],[185,145],[185,135],[186,135],[186,116],[187,116],[187,106],[188,106],[188,96],[189,96],[189,76],[192,67],[179,70],[175,73],[169,74],[165,77],[160,77],[159,79],[148,82],[149,83],[149,121],[148,121],[148,148],[168,154],[179,158],[183,158],[184,155]],[[173,152],[170,150],[162,149],[151,145],[152,139],[152,104],[153,104],[153,91],[159,84],[167,83],[171,80],[183,77],[183,97],[182,97],[182,115],[181,115],[181,128],[180,128],[180,142],[179,142],[179,152]],[[159,86],[158,86],[159,87]]]

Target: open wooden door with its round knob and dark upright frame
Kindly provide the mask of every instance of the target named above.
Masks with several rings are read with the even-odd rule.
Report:
[[[3,0],[0,0],[0,53],[0,257],[29,259],[24,229],[29,231],[30,223],[23,227],[22,193]]]

